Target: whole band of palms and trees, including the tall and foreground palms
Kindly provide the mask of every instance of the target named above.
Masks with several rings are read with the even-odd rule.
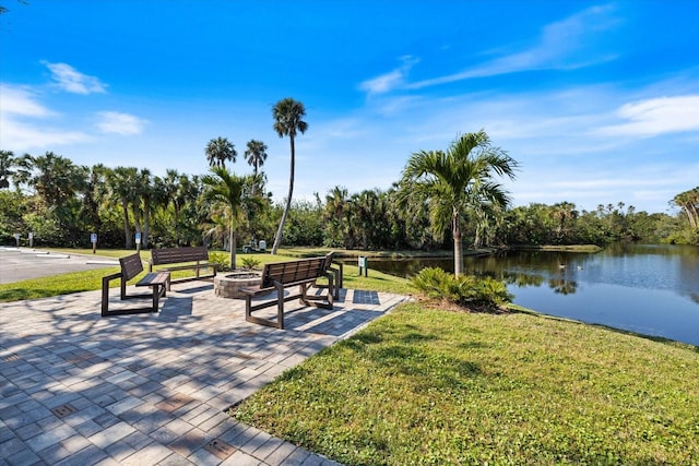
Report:
[[[350,193],[335,187],[324,199],[317,194],[315,202],[292,201],[292,140],[308,127],[303,105],[282,103],[273,111],[274,128],[289,136],[292,150],[289,196],[283,205],[273,204],[264,191],[259,169],[266,147],[257,140],[247,145],[252,174],[245,176],[229,171],[223,159],[203,177],[175,169],[159,177],[146,168],[80,166],[51,152],[15,156],[0,151],[0,243],[13,243],[14,232],[26,238],[31,231],[37,244],[88,247],[90,234],[96,232],[100,247],[131,249],[140,232],[144,248],[226,249],[235,267],[237,238],[271,238],[276,232],[279,239],[280,226],[287,246],[453,248],[455,261],[462,256],[462,244],[699,241],[696,225],[690,225],[697,189],[674,199],[683,210],[676,216],[636,212],[623,203],[592,212],[580,212],[568,202],[511,208],[497,178],[512,178],[517,163],[494,147],[483,131],[458,138],[446,151],[412,154],[402,178],[387,191]]]

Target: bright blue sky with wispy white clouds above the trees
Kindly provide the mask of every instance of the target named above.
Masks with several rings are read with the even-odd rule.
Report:
[[[275,200],[386,190],[412,153],[484,129],[514,205],[668,211],[699,186],[699,2],[2,0],[0,148],[202,175],[268,144]]]

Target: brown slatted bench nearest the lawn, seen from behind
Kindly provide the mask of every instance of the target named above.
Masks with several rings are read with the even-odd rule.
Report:
[[[284,328],[284,302],[298,298],[305,306],[317,306],[319,308],[332,309],[334,274],[328,272],[330,261],[327,256],[300,259],[289,262],[277,262],[264,264],[262,270],[262,280],[257,287],[242,288],[245,295],[245,320],[261,325]],[[308,289],[316,284],[320,277],[327,277],[329,282],[328,292],[316,296],[308,295]],[[298,294],[284,296],[284,288],[298,285]],[[252,298],[259,295],[276,291],[276,298],[256,306],[252,306]],[[253,316],[252,312],[276,304],[276,321]]]

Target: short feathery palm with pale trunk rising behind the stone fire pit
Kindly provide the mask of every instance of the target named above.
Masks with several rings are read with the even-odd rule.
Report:
[[[229,172],[226,167],[212,167],[211,175],[202,178],[206,187],[204,200],[213,204],[225,205],[229,218],[230,270],[236,268],[236,239],[239,222],[248,201],[247,188],[252,186],[252,177],[239,177]]]

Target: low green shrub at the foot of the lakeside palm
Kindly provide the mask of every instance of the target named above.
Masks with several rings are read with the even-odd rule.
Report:
[[[500,307],[512,299],[507,286],[490,277],[461,275],[459,277],[439,267],[423,268],[413,285],[429,298],[447,299],[461,306],[486,304]]]

